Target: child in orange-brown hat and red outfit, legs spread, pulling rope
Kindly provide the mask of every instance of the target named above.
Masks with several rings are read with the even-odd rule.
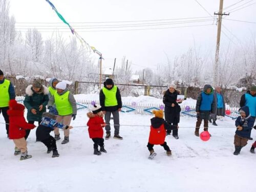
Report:
[[[151,119],[150,138],[148,139],[147,143],[148,151],[150,151],[150,156],[148,157],[148,159],[153,159],[157,155],[153,148],[154,145],[163,146],[167,156],[171,156],[172,151],[170,151],[169,146],[165,142],[166,130],[175,130],[178,129],[178,126],[170,125],[167,121],[165,121],[163,119],[162,110],[153,110],[153,114],[155,114],[155,117]]]

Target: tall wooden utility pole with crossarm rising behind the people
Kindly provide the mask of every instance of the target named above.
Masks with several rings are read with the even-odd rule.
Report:
[[[215,66],[214,66],[214,86],[218,86],[218,76],[219,76],[219,52],[220,52],[220,40],[221,40],[221,22],[222,15],[229,15],[223,13],[223,0],[220,0],[220,8],[218,13],[214,13],[215,15],[219,15],[218,18],[218,29],[217,29],[217,43],[216,43],[216,52],[215,52]]]

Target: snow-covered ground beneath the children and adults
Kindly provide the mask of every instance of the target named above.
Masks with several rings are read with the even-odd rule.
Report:
[[[72,125],[86,125],[87,112],[78,110]],[[120,124],[148,126],[121,126],[120,135],[124,139],[105,140],[108,153],[101,156],[93,155],[93,142],[86,126],[71,130],[70,142],[65,145],[61,144],[61,132],[61,140],[57,141],[58,158],[47,154],[44,144],[35,142],[35,130],[32,130],[28,151],[33,157],[24,161],[13,155],[14,143],[6,137],[4,124],[0,124],[0,190],[256,191],[256,155],[249,153],[252,141],[248,141],[239,156],[232,154],[233,120],[225,117],[217,121],[217,127],[210,124],[212,137],[203,142],[194,135],[196,118],[183,116],[180,139],[166,137],[173,156],[167,157],[163,147],[155,145],[157,156],[148,160],[146,145],[152,117],[121,113]],[[4,122],[2,115],[0,122]],[[255,130],[251,136],[256,138]]]

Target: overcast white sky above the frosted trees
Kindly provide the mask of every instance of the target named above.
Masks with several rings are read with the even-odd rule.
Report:
[[[131,20],[154,20],[210,16],[202,7],[200,7],[200,5],[195,0],[50,1],[54,4],[58,12],[62,14],[62,16],[67,20],[68,23],[119,21],[123,22]],[[197,1],[211,15],[214,15],[214,12],[218,11],[219,9],[219,0]],[[224,0],[224,8],[237,2],[240,2],[240,0]],[[244,9],[230,13],[230,15],[226,16],[225,18],[256,22],[256,4],[253,3],[256,3],[256,0],[244,0],[241,3],[224,10],[229,11],[232,8],[236,8],[243,4],[245,5],[241,8],[248,6]],[[61,23],[61,20],[58,18],[56,13],[51,9],[50,5],[45,0],[10,0],[10,15],[15,16],[17,26],[36,25],[18,24],[30,22]],[[212,23],[212,21],[208,21],[202,23],[188,23],[180,25],[163,25],[150,28],[208,25]],[[239,40],[244,41],[251,37],[251,34],[256,34],[256,24],[235,22],[232,20],[224,19],[223,24],[236,36],[234,37],[231,33],[227,31],[227,29],[223,29],[224,33],[227,34],[228,38],[232,39],[233,46],[238,46]],[[68,29],[68,26],[65,24],[56,25]],[[86,24],[71,24],[74,29],[78,28],[75,26],[79,25],[84,26]],[[36,28],[40,29],[41,27]],[[190,47],[194,47],[194,39],[196,47],[200,47],[201,52],[207,53],[214,51],[216,46],[217,26],[209,25],[201,27],[169,28],[140,31],[77,31],[87,42],[89,42],[91,46],[96,47],[96,49],[103,54],[103,57],[105,58],[105,61],[103,63],[104,66],[112,66],[115,57],[117,58],[117,63],[120,63],[122,56],[125,55],[126,58],[129,59],[129,61],[132,61],[136,65],[132,66],[133,69],[143,69],[146,67],[154,69],[158,63],[166,62],[165,53],[170,59],[173,59],[176,55],[179,56],[182,53],[186,52]],[[49,32],[43,32],[42,34],[44,38],[47,38],[51,35],[51,33]],[[67,37],[72,36],[71,32],[65,32],[63,34]],[[230,40],[228,38],[224,34],[222,34],[221,47],[225,47],[229,44]]]

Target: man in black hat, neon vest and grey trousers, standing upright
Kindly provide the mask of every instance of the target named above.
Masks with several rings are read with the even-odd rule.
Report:
[[[110,117],[111,113],[114,119],[114,137],[115,139],[123,139],[119,135],[119,112],[122,108],[122,99],[121,94],[117,86],[114,85],[112,79],[106,79],[104,82],[104,87],[100,90],[99,93],[99,101],[102,107],[102,112],[105,114],[105,126],[106,136],[105,139],[109,139],[111,137],[110,132]]]

